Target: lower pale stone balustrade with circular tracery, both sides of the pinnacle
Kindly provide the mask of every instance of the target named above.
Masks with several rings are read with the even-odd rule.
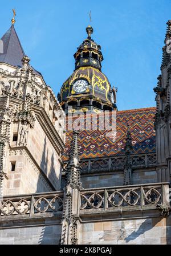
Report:
[[[80,215],[91,211],[148,210],[169,206],[169,183],[152,183],[120,187],[103,187],[80,191]],[[14,215],[62,214],[63,192],[27,194],[3,197],[0,200],[0,219]]]

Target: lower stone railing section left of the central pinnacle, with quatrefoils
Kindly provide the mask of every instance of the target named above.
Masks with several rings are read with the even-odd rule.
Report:
[[[0,199],[0,218],[9,215],[30,216],[63,210],[63,192],[8,196]]]

